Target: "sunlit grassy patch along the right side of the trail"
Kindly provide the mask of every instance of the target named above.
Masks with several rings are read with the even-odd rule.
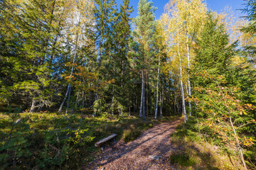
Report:
[[[177,149],[169,159],[177,169],[242,169],[238,155],[206,140],[196,132],[195,123],[178,125],[171,136],[171,144]]]

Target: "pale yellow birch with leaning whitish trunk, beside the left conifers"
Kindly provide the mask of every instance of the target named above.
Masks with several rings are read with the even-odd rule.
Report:
[[[70,77],[72,77],[74,72],[75,60],[78,54],[78,49],[82,46],[87,46],[86,42],[88,38],[86,37],[87,36],[86,31],[88,31],[87,27],[92,26],[94,22],[93,21],[94,17],[92,13],[92,10],[94,8],[94,3],[93,1],[90,1],[90,0],[80,0],[80,1],[69,1],[68,5],[72,6],[73,8],[70,8],[70,13],[66,20],[65,30],[63,30],[63,33],[65,33],[65,37],[63,37],[63,40],[66,43],[71,44],[70,56],[71,56],[72,67],[70,71]],[[66,113],[68,113],[70,94],[71,94],[71,84],[69,83],[63,102],[60,104],[60,108],[58,110],[59,112],[62,111],[64,103],[68,98],[67,108],[66,108]]]

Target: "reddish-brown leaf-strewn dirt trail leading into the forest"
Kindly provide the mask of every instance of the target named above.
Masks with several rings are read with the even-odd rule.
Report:
[[[161,123],[146,130],[133,142],[119,141],[105,148],[85,169],[174,169],[169,163],[169,155],[176,148],[171,146],[170,135],[176,131],[183,118]],[[158,160],[149,156],[160,156]]]

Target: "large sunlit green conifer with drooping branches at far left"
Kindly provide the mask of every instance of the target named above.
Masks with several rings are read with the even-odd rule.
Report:
[[[53,81],[50,77],[50,50],[53,48],[53,37],[58,35],[59,20],[56,15],[63,4],[60,1],[5,1],[3,6],[4,22],[10,31],[9,36],[20,42],[20,58],[16,69],[20,70],[23,79],[16,81],[12,91],[28,98],[31,112],[51,106]],[[61,10],[60,10],[61,11]],[[18,40],[17,39],[17,40]],[[14,42],[16,43],[16,42]]]

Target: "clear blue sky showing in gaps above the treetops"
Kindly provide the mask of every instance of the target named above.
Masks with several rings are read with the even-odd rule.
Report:
[[[156,10],[156,18],[161,16],[161,13],[164,13],[164,6],[169,2],[169,0],[151,0],[158,9]],[[118,3],[122,2],[122,0],[117,0]],[[132,13],[131,17],[137,16],[137,6],[139,0],[130,0],[131,6],[134,7],[134,12]],[[244,0],[207,0],[208,8],[213,11],[217,11],[218,13],[221,12],[225,8],[225,6],[231,6],[233,11],[237,12],[239,16],[243,16],[240,11],[237,9],[242,9],[245,7]]]

